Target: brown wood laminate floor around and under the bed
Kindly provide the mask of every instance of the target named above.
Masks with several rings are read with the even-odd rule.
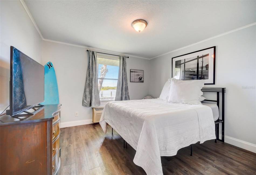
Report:
[[[99,124],[61,128],[59,175],[146,174],[133,163],[135,150],[108,126]],[[182,148],[176,156],[161,157],[164,174],[256,174],[256,154],[213,140]]]

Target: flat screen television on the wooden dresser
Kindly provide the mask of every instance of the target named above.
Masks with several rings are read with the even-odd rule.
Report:
[[[11,46],[10,110],[16,115],[44,101],[44,66]]]

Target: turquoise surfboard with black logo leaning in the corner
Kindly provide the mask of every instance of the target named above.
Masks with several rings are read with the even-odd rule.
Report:
[[[50,61],[44,65],[44,102],[40,104],[59,104],[57,78]]]

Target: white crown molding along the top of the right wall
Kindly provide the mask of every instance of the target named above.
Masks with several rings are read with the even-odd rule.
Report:
[[[199,43],[203,43],[203,42],[205,42],[205,41],[208,41],[208,40],[211,40],[211,39],[214,39],[214,38],[217,38],[217,37],[220,37],[220,36],[223,36],[223,35],[232,33],[232,32],[236,32],[236,31],[238,31],[238,30],[245,29],[245,28],[247,28],[247,27],[251,27],[251,26],[254,26],[254,25],[256,25],[256,22],[251,23],[251,24],[248,24],[248,25],[245,25],[245,26],[242,26],[242,27],[238,27],[237,29],[230,30],[229,32],[225,32],[225,33],[222,33],[222,34],[219,34],[219,35],[216,35],[216,36],[207,38],[207,39],[205,39],[205,40],[198,41],[198,42],[193,43],[193,44],[186,45],[186,46],[184,46],[184,47],[181,47],[181,48],[178,48],[178,49],[175,49],[175,50],[166,52],[166,53],[164,53],[164,54],[158,55],[158,56],[153,57],[153,58],[150,58],[150,59],[154,59],[154,58],[157,58],[157,57],[161,57],[161,56],[163,56],[163,55],[166,55],[166,54],[169,54],[169,53],[172,53],[172,52],[175,52],[175,51],[178,51],[178,50],[181,50],[181,49],[190,47],[190,46],[192,46],[192,45],[196,45],[196,44],[199,44]]]

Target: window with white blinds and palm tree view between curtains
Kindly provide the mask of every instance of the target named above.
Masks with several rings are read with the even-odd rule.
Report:
[[[119,58],[97,55],[98,87],[101,101],[114,101],[119,71]]]

